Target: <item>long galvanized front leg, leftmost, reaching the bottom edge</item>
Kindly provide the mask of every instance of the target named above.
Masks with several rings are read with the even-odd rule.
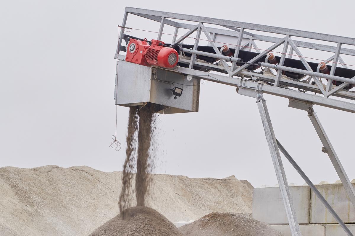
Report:
[[[264,126],[266,140],[269,145],[272,162],[274,164],[276,177],[279,182],[282,199],[284,201],[286,215],[289,221],[292,236],[301,236],[300,227],[298,225],[295,208],[293,206],[292,197],[290,195],[289,186],[287,183],[284,166],[282,164],[279,148],[277,146],[274,130],[272,128],[266,102],[261,94],[257,97],[258,109],[261,116],[261,121]]]

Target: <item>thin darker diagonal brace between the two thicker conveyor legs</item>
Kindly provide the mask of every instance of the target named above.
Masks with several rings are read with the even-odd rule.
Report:
[[[293,160],[293,158],[290,156],[290,154],[286,151],[286,149],[280,144],[279,140],[276,139],[277,145],[280,149],[280,151],[282,152],[282,154],[284,154],[284,156],[287,158],[287,160],[291,163],[291,165],[296,169],[296,171],[301,175],[301,177],[305,180],[305,182],[308,184],[308,186],[310,186],[310,188],[312,189],[312,191],[317,195],[317,197],[319,198],[319,200],[321,200],[321,202],[324,204],[324,206],[328,209],[328,211],[333,215],[333,217],[335,218],[335,220],[338,221],[339,225],[342,226],[343,230],[346,232],[346,234],[348,236],[354,236],[348,227],[346,227],[346,225],[344,224],[343,220],[340,219],[339,215],[334,211],[334,209],[331,207],[331,205],[329,205],[329,203],[327,202],[327,200],[322,196],[322,194],[318,191],[318,189],[316,188],[316,186],[314,186],[314,184],[311,182],[311,180],[307,177],[307,175],[305,174],[305,172],[302,171],[302,169],[299,167],[299,165],[297,165],[297,163],[295,162],[295,160]]]

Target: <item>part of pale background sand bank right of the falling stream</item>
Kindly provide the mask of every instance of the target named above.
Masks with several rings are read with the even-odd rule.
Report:
[[[154,179],[156,199],[151,207],[172,222],[197,220],[211,212],[252,213],[253,192],[234,176],[191,179],[158,174]]]

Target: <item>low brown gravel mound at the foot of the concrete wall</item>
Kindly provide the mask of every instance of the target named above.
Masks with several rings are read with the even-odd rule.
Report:
[[[179,230],[185,236],[284,236],[267,223],[237,213],[213,212]]]

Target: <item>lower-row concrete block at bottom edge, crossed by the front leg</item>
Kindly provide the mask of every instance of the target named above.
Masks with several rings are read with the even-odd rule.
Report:
[[[280,231],[285,236],[292,236],[289,225],[271,225],[275,230]],[[300,225],[302,236],[324,236],[324,225]]]

